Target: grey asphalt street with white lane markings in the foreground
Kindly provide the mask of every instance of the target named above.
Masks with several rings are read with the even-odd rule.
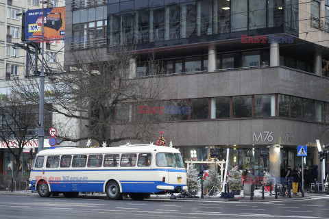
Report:
[[[329,218],[329,195],[263,203],[1,195],[0,206],[0,218]]]

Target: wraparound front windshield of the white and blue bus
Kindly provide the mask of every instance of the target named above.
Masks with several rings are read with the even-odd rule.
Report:
[[[179,153],[157,153],[156,166],[184,168],[183,159]]]

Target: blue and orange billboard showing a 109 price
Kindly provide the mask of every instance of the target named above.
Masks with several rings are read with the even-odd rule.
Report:
[[[65,7],[45,8],[45,40],[64,39]],[[25,19],[25,40],[39,41],[42,37],[42,9],[28,10]]]

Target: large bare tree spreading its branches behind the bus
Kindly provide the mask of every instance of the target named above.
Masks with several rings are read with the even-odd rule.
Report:
[[[51,105],[51,112],[56,115],[53,125],[58,128],[58,138],[71,142],[90,138],[99,144],[111,144],[122,140],[149,140],[154,135],[162,115],[154,111],[138,113],[138,105],[165,105],[165,101],[160,101],[165,85],[160,83],[161,76],[131,75],[132,68],[136,68],[132,60],[136,59],[138,55],[128,46],[108,48],[107,54],[99,49],[71,51],[69,70],[48,75],[45,87],[45,103]],[[148,57],[147,70],[149,75],[164,73],[153,55]],[[15,81],[15,84],[12,88],[15,92],[35,90],[33,94],[37,95],[26,98],[37,103],[38,81],[30,79],[25,83]],[[121,115],[119,120],[118,115]]]

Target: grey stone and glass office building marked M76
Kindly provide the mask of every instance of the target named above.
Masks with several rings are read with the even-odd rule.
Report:
[[[329,143],[328,18],[329,1],[317,0],[66,1],[66,33],[77,40],[65,56],[134,42],[130,77],[160,77],[170,105],[191,110],[163,117],[184,159],[210,149],[226,159],[230,149],[230,166],[278,177],[301,164],[298,145],[314,166],[315,140]],[[165,75],[147,69],[149,53]]]

